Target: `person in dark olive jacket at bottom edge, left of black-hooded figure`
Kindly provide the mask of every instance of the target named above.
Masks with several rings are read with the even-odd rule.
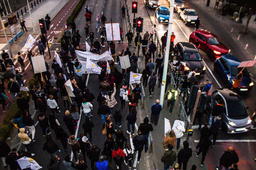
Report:
[[[176,153],[172,149],[172,145],[168,145],[168,147],[164,149],[164,154],[161,157],[161,162],[164,163],[164,170],[168,170],[176,160]]]

